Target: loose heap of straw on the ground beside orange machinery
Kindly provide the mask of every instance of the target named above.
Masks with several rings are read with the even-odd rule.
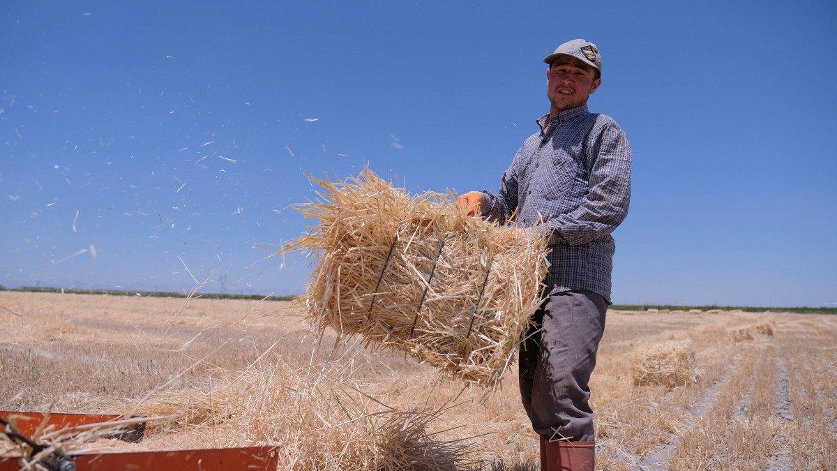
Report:
[[[203,387],[107,406],[126,416],[151,417],[140,443],[100,438],[113,427],[38,438],[64,453],[273,445],[278,469],[294,471],[453,471],[477,464],[469,458],[473,441],[446,440],[428,430],[444,410],[386,406],[352,386],[346,365],[299,368],[274,358],[237,374],[219,371],[223,377]],[[0,440],[0,456],[17,451]]]

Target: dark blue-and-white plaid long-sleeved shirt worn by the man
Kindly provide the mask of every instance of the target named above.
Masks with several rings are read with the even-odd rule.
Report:
[[[611,232],[628,215],[631,152],[622,128],[587,105],[541,116],[501,179],[483,190],[482,215],[550,232],[550,293],[586,289],[610,302]],[[541,168],[543,165],[543,168]]]

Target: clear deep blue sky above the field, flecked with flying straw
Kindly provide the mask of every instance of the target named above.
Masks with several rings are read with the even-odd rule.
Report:
[[[243,268],[304,230],[304,172],[496,189],[548,110],[542,58],[584,38],[590,108],[634,149],[614,302],[834,306],[835,24],[834,2],[5,3],[0,283],[188,289],[182,258],[207,291],[302,292],[305,258]]]

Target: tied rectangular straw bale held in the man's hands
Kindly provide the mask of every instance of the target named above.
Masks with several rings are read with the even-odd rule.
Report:
[[[321,257],[304,300],[322,334],[361,335],[456,378],[496,386],[542,301],[547,243],[465,215],[453,194],[411,197],[369,170],[300,211],[290,250]]]

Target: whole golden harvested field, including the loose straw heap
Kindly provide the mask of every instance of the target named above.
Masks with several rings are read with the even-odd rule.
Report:
[[[292,445],[283,468],[537,468],[514,368],[496,391],[463,391],[403,355],[332,350],[335,335],[308,334],[290,303],[183,303],[0,292],[0,408],[177,413],[144,443],[117,445],[280,439]],[[741,329],[752,339],[733,339]],[[639,349],[684,342],[701,375],[634,386]],[[835,345],[837,317],[825,315],[608,312],[591,385],[598,467],[833,469]],[[264,420],[289,403],[285,422]]]

